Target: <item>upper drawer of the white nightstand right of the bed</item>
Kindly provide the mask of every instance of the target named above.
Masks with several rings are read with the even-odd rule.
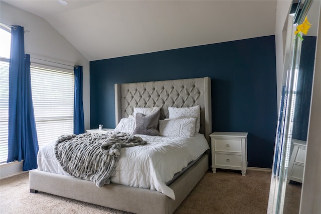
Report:
[[[239,152],[242,153],[241,139],[214,139],[216,152]]]

